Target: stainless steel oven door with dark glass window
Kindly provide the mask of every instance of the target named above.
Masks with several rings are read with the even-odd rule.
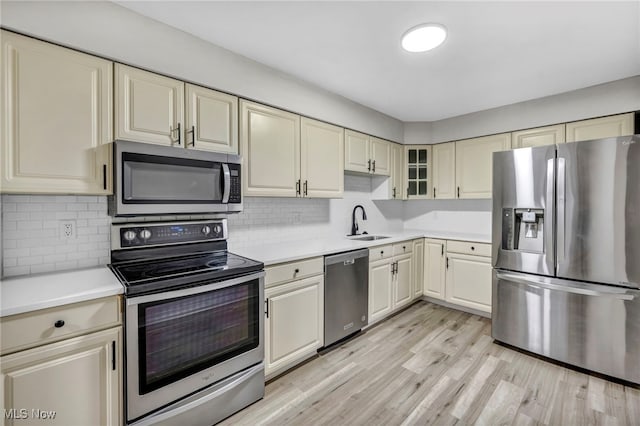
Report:
[[[262,362],[264,272],[127,299],[127,420]]]

